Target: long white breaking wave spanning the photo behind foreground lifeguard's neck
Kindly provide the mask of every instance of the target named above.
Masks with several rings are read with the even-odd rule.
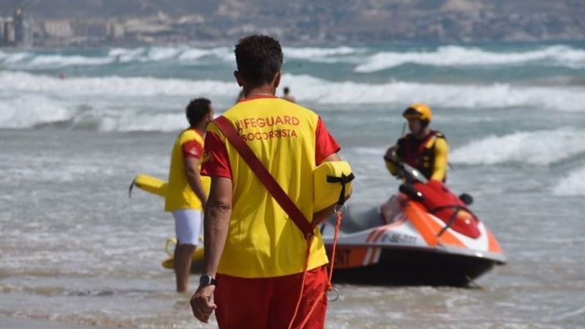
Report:
[[[46,92],[66,95],[187,96],[233,98],[235,83],[152,77],[59,78],[0,72],[5,92]],[[521,87],[510,84],[456,85],[394,81],[384,84],[333,82],[312,76],[285,74],[282,85],[302,102],[316,104],[404,104],[425,101],[436,107],[544,108],[585,112],[583,87]]]

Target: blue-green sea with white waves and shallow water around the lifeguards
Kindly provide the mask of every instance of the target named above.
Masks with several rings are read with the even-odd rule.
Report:
[[[382,160],[412,102],[450,145],[448,184],[508,263],[481,288],[340,285],[328,328],[585,327],[585,44],[285,47],[281,87],[352,163],[352,203],[397,190]],[[211,328],[160,262],[165,178],[191,98],[238,95],[233,48],[0,51],[0,317]],[[281,88],[278,90],[281,94]],[[400,269],[396,269],[400,270]],[[198,276],[191,277],[190,290]]]

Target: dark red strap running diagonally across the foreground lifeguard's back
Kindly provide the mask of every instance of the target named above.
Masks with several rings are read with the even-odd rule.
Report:
[[[297,205],[292,202],[291,198],[288,197],[283,188],[280,187],[278,182],[266,167],[264,167],[258,157],[254,155],[250,146],[242,140],[232,123],[223,115],[218,116],[218,118],[214,120],[214,123],[229,140],[230,144],[232,144],[232,146],[238,151],[240,156],[242,156],[250,169],[252,169],[252,172],[256,174],[256,177],[258,177],[260,182],[266,187],[274,200],[276,200],[285,213],[288,214],[288,217],[291,218],[292,222],[294,222],[294,224],[301,230],[305,238],[311,237],[314,226],[309,223]]]

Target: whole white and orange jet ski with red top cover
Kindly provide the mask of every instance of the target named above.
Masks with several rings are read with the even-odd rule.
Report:
[[[333,281],[367,285],[468,286],[506,262],[494,234],[441,181],[398,163],[400,193],[380,207],[348,205]],[[335,216],[322,227],[331,259]]]

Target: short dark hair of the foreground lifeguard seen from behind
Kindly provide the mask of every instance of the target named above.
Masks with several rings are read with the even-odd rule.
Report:
[[[254,87],[270,83],[283,66],[280,43],[269,36],[244,37],[236,44],[234,53],[240,76]]]

